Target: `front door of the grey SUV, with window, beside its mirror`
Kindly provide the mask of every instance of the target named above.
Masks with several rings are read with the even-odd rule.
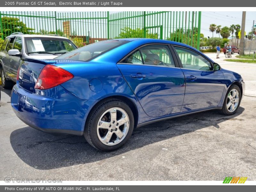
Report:
[[[13,49],[18,49],[20,52],[22,50],[22,39],[21,37],[16,37],[15,42],[13,44]],[[9,55],[10,59],[10,76],[13,81],[16,81],[17,72],[20,66],[21,57],[15,55]]]

